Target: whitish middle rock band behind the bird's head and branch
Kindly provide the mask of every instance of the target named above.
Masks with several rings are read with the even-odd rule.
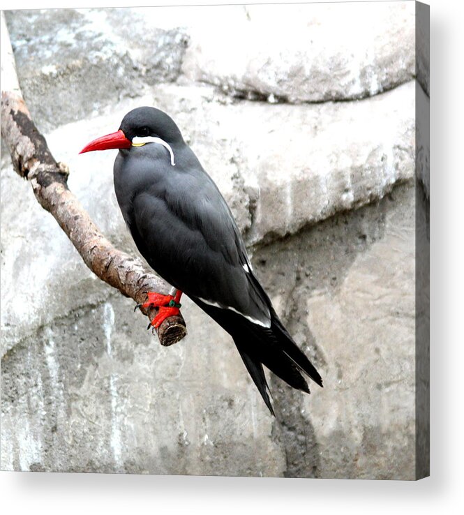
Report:
[[[71,190],[115,244],[136,252],[114,197],[116,151],[78,152],[94,137],[116,130],[128,110],[144,103],[154,103],[178,121],[249,244],[292,234],[336,211],[381,198],[397,181],[414,177],[414,82],[356,104],[298,107],[219,100],[211,88],[158,87],[154,98],[125,101],[106,115],[47,135],[55,158],[70,166]],[[1,207],[2,345],[9,348],[20,334],[103,297],[89,291],[96,279],[40,209],[29,184],[9,170],[2,192],[8,198]],[[40,269],[29,268],[34,264]],[[61,290],[63,282],[70,291]],[[33,295],[38,291],[44,294]],[[29,313],[18,292],[27,294]]]

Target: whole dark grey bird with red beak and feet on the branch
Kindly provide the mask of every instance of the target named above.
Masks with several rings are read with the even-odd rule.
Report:
[[[263,366],[308,394],[305,376],[322,387],[320,373],[258,281],[230,207],[174,120],[156,107],[137,107],[119,130],[91,141],[80,154],[107,149],[119,149],[114,191],[135,245],[172,286],[167,295],[147,292],[142,306],[159,308],[151,325],[179,314],[186,294],[232,336],[274,417]]]

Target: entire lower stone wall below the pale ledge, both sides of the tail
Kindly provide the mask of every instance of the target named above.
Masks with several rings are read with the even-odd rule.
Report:
[[[105,300],[3,356],[2,468],[413,479],[413,256],[411,183],[255,249],[324,377],[310,396],[271,378],[277,419],[196,306],[185,302],[184,341],[162,348],[132,302],[94,281]]]

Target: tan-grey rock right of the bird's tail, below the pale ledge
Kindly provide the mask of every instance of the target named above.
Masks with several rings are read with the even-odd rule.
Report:
[[[310,396],[271,380],[288,476],[415,477],[414,202],[401,186],[254,255],[324,377]]]

